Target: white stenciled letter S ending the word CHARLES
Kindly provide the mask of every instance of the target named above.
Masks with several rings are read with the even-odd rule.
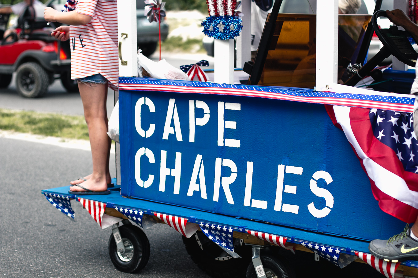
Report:
[[[311,182],[309,183],[309,188],[311,188],[312,193],[314,193],[318,197],[325,198],[325,208],[317,209],[315,208],[314,202],[308,205],[309,212],[316,218],[323,218],[331,212],[331,208],[334,206],[334,197],[332,194],[326,190],[325,188],[320,188],[316,184],[316,181],[319,179],[324,179],[326,184],[332,183],[331,175],[325,171],[316,171],[314,175],[312,175]]]

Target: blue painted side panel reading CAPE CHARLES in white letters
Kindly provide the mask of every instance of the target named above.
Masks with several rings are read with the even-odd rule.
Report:
[[[365,240],[404,226],[378,207],[324,105],[119,94],[124,196]]]

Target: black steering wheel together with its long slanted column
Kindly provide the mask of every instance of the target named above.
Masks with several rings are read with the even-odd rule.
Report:
[[[406,65],[415,67],[418,53],[415,52],[414,48],[408,40],[409,33],[403,30],[399,30],[395,25],[390,26],[389,29],[380,29],[379,25],[377,25],[377,18],[381,16],[387,18],[386,12],[384,10],[378,10],[376,13],[374,13],[371,22],[377,37],[383,44],[383,47],[375,56],[369,60],[369,62],[367,62],[361,69],[359,69],[356,74],[349,78],[349,80],[347,80],[344,85],[356,85],[366,75],[370,75],[370,72],[372,72],[372,70],[376,68],[377,65],[379,65],[391,54]]]

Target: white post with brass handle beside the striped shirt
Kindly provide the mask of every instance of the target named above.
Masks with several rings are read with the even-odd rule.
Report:
[[[126,62],[122,65],[119,59],[119,76],[138,76],[136,1],[117,1],[117,34],[121,45],[120,56]]]

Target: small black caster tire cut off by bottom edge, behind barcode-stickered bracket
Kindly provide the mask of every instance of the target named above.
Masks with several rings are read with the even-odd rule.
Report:
[[[261,263],[267,278],[294,278],[295,274],[293,269],[289,267],[285,260],[279,259],[272,255],[260,255]],[[245,278],[257,278],[255,268],[252,262],[248,265]]]

